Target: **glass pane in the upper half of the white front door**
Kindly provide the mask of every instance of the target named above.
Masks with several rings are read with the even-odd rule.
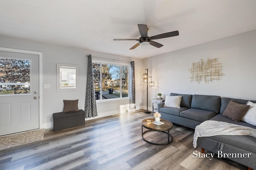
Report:
[[[30,94],[30,60],[0,58],[0,95]]]

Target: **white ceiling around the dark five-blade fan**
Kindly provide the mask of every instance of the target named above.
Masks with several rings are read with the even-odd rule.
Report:
[[[146,58],[256,29],[256,0],[0,0],[0,35]],[[180,35],[130,47],[137,24],[148,36]]]

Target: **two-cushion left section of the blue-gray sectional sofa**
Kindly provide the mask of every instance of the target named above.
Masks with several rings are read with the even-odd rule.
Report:
[[[180,108],[157,106],[161,118],[182,126],[195,129],[203,121],[220,113],[220,96],[191,95],[171,93],[170,96],[182,96]]]

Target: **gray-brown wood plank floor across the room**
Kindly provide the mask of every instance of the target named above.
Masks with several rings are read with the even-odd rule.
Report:
[[[92,119],[86,125],[53,132],[44,140],[0,151],[1,170],[247,170],[230,160],[193,158],[194,130],[174,124],[168,145],[152,145],[141,137],[141,121],[152,114],[132,111]],[[145,130],[145,129],[144,129]],[[149,132],[147,140],[167,140]],[[208,152],[206,150],[206,152]]]

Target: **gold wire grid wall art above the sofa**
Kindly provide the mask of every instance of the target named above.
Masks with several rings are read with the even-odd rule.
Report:
[[[190,82],[197,82],[198,84],[201,81],[205,83],[212,82],[213,80],[220,80],[221,76],[224,76],[222,73],[222,64],[218,62],[218,59],[207,59],[204,61],[201,59],[197,63],[192,63],[191,68],[188,69],[191,74]]]

